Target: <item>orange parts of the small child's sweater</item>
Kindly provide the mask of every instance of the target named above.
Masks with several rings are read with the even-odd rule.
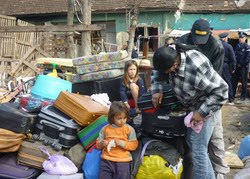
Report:
[[[124,148],[120,146],[112,147],[108,152],[107,147],[102,150],[102,158],[106,160],[110,160],[113,162],[129,162],[132,161],[132,156],[130,151],[133,151],[138,146],[138,141],[128,140],[128,136],[130,135],[131,128],[128,125],[124,125],[123,127],[113,127],[111,125],[107,125],[103,129],[105,140],[110,142],[112,139],[119,139],[125,141]],[[135,135],[135,134],[134,134]],[[97,141],[97,148],[99,148],[99,141]]]

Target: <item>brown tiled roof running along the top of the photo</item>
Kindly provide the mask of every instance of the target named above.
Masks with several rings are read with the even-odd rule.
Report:
[[[78,0],[80,1],[80,0]],[[92,0],[92,11],[119,12],[129,9],[133,0]],[[172,11],[179,6],[182,12],[250,12],[249,0],[137,0],[140,10]],[[38,15],[67,12],[67,0],[0,0],[0,14],[3,15]]]

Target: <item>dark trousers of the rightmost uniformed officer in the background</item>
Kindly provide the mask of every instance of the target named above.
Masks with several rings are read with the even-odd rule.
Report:
[[[246,99],[246,97],[247,97],[247,75],[248,75],[248,66],[243,66],[243,67],[237,66],[236,67],[236,70],[235,70],[233,77],[232,77],[232,87],[233,87],[234,97],[236,94],[238,83],[241,79],[242,91],[241,91],[240,98],[243,100]]]

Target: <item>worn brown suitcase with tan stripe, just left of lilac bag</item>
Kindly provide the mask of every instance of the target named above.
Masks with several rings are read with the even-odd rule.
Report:
[[[42,142],[39,141],[23,141],[17,155],[17,163],[33,168],[43,169],[43,162],[48,159],[39,147],[44,147]],[[63,155],[64,151],[55,151],[50,146],[46,146],[49,154]]]

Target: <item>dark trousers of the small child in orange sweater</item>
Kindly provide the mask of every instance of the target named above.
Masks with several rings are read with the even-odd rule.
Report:
[[[101,159],[99,179],[130,179],[130,162]]]

